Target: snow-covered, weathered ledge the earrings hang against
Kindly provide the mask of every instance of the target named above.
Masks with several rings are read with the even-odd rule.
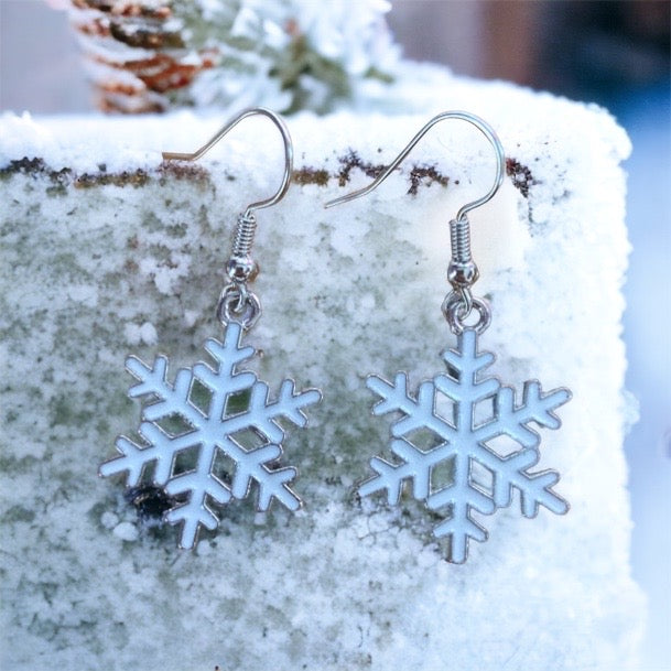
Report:
[[[291,375],[324,391],[285,442],[306,505],[266,518],[228,506],[193,553],[173,528],[139,524],[121,481],[96,472],[138,424],[126,355],[162,351],[175,370],[219,335],[235,218],[277,186],[279,139],[250,120],[199,164],[164,166],[161,150],[191,151],[224,119],[2,119],[3,668],[638,669],[621,450],[628,140],[594,107],[422,73],[421,113],[289,119],[296,184],[258,215],[264,312],[248,343],[271,389]],[[465,565],[444,561],[421,506],[360,505],[351,487],[389,432],[365,376],[408,370],[414,387],[455,344],[440,312],[446,223],[488,188],[490,148],[443,123],[374,195],[322,208],[455,108],[487,119],[508,156],[504,187],[472,216],[493,372],[574,394],[540,462],[562,474],[571,511],[526,520],[513,502]]]

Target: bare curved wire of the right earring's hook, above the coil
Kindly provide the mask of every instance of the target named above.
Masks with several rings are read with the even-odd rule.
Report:
[[[410,140],[405,149],[401,151],[401,153],[391,162],[391,164],[385,169],[385,172],[378,175],[375,181],[371,182],[368,186],[359,188],[358,191],[353,191],[351,193],[345,194],[344,196],[340,196],[338,198],[334,198],[333,201],[328,201],[328,203],[326,203],[324,207],[333,207],[334,205],[348,203],[349,201],[354,201],[355,198],[365,196],[375,188],[377,188],[398,167],[401,161],[403,161],[405,156],[408,156],[414,145],[429,132],[429,130],[431,130],[431,128],[433,128],[436,123],[439,123],[440,121],[444,121],[445,119],[461,119],[462,121],[467,121],[472,126],[475,126],[475,128],[477,128],[487,138],[487,140],[494,148],[494,151],[496,152],[496,175],[491,188],[480,198],[477,198],[470,203],[467,203],[466,205],[463,205],[456,214],[456,220],[462,220],[466,216],[466,213],[470,212],[472,209],[475,209],[476,207],[479,207],[480,205],[485,205],[485,203],[487,203],[494,197],[494,194],[496,194],[504,181],[504,174],[506,169],[506,154],[504,152],[504,147],[501,144],[501,141],[498,139],[498,136],[496,134],[491,126],[487,123],[487,121],[467,111],[452,110],[442,112],[431,119],[431,121],[429,121],[414,136],[414,138]]]

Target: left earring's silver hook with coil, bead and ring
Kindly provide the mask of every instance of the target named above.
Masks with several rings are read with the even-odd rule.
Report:
[[[165,161],[196,161],[207,153],[240,121],[256,115],[268,117],[278,127],[278,130],[282,136],[282,141],[284,143],[284,174],[280,188],[274,195],[264,201],[249,204],[245,209],[245,213],[240,214],[238,217],[232,249],[226,263],[226,272],[230,279],[230,283],[224,288],[221,295],[219,296],[217,317],[223,324],[238,322],[245,329],[251,328],[261,316],[261,303],[258,296],[249,291],[247,286],[247,283],[255,279],[259,270],[256,261],[251,258],[251,248],[257,230],[255,212],[279,203],[289,190],[291,173],[293,171],[293,143],[291,141],[291,136],[289,134],[289,129],[282,118],[275,112],[264,107],[253,107],[242,110],[239,115],[229,119],[221,130],[195,152],[163,152],[163,159]]]

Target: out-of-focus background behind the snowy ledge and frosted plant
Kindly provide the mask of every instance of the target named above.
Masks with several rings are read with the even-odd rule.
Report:
[[[351,4],[356,7],[356,0]],[[626,169],[632,252],[624,337],[627,387],[640,404],[640,421],[626,442],[635,524],[631,559],[634,577],[650,605],[643,669],[669,670],[670,2],[394,0],[391,7],[388,23],[407,57],[597,102],[631,138],[634,152]],[[94,110],[67,15],[41,0],[0,0],[0,109]]]

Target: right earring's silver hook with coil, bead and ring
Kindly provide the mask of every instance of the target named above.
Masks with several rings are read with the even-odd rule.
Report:
[[[447,281],[452,284],[453,291],[447,294],[443,302],[443,314],[454,333],[461,333],[464,329],[464,321],[474,307],[479,313],[479,322],[476,328],[481,333],[489,325],[490,313],[486,302],[480,299],[474,299],[470,293],[470,286],[475,284],[479,273],[477,266],[473,261],[473,255],[470,253],[470,224],[467,214],[472,209],[485,205],[485,203],[494,197],[504,182],[506,171],[506,154],[504,152],[504,147],[487,121],[480,119],[480,117],[476,115],[459,110],[445,111],[437,115],[431,119],[412,140],[410,140],[401,153],[368,186],[334,198],[333,201],[328,201],[324,207],[328,208],[334,205],[348,203],[349,201],[365,196],[376,190],[399,166],[401,161],[408,156],[414,145],[426,134],[426,132],[436,123],[444,121],[445,119],[459,119],[475,126],[475,128],[487,138],[496,153],[496,174],[494,184],[489,191],[484,196],[463,205],[457,210],[456,218],[450,221],[452,258],[450,259],[450,264],[447,267]]]

